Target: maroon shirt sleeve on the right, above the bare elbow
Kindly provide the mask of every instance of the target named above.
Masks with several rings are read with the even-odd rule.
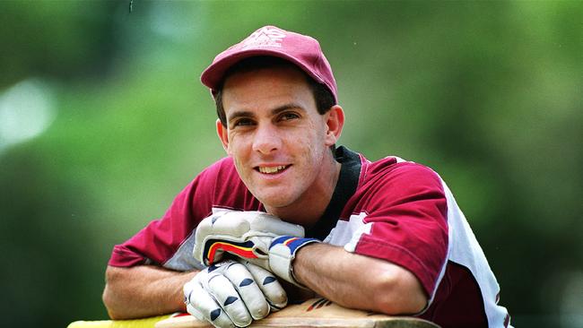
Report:
[[[373,168],[374,169],[374,168]],[[369,172],[364,208],[368,231],[353,236],[354,253],[404,267],[432,295],[448,253],[447,200],[440,177],[405,162]]]

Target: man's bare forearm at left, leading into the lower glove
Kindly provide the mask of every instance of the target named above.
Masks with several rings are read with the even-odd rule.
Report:
[[[108,266],[103,303],[112,319],[132,319],[185,311],[182,287],[196,272],[152,265]]]

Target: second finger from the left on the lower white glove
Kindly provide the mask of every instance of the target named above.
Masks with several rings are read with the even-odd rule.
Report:
[[[222,273],[209,273],[208,281],[205,281],[207,290],[213,298],[221,305],[224,312],[229,315],[231,321],[239,327],[246,327],[253,321],[249,315],[247,306],[239,297],[239,293],[232,285],[231,281]]]

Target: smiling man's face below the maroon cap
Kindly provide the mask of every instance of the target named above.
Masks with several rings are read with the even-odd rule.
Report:
[[[235,73],[224,83],[222,104],[228,126],[217,121],[219,137],[268,209],[306,203],[330,184],[322,173],[331,169],[329,147],[339,132],[331,132],[329,113],[318,114],[302,73],[292,67]]]

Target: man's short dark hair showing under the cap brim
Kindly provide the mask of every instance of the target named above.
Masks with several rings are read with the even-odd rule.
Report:
[[[265,68],[276,67],[293,67],[300,71],[308,82],[309,89],[312,91],[314,99],[316,100],[316,108],[320,115],[326,114],[330,108],[336,105],[332,92],[328,90],[326,85],[316,82],[308,73],[305,73],[300,67],[293,65],[291,62],[274,56],[253,56],[240,60],[237,64],[232,65],[219,84],[219,87],[213,92],[214,103],[216,105],[217,116],[221,120],[223,126],[227,126],[227,117],[225,110],[222,107],[222,87],[224,82],[235,73],[248,73]]]

